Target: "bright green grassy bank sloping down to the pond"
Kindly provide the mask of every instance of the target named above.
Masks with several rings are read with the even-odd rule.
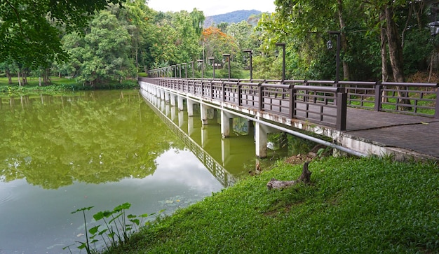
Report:
[[[439,168],[376,158],[279,162],[203,202],[159,218],[108,253],[438,253]]]

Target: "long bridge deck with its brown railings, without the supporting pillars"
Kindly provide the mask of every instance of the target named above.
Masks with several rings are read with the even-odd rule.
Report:
[[[168,96],[171,104],[173,97],[179,104],[181,98],[201,101],[270,128],[297,135],[313,132],[333,141],[322,143],[354,155],[439,160],[435,83],[166,77],[138,81],[144,90],[161,91],[158,96]]]

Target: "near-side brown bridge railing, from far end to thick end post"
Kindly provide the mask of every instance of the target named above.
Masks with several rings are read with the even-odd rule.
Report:
[[[192,94],[219,103],[252,108],[261,113],[296,118],[346,129],[344,87],[303,85],[304,80],[207,80],[186,78],[139,78],[174,92]]]

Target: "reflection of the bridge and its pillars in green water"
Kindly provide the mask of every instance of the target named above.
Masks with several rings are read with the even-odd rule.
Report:
[[[154,94],[144,90],[140,92],[163,122],[180,136],[184,145],[224,186],[233,184],[237,176],[246,174],[245,169],[255,167],[253,127],[248,120],[234,119],[234,132],[229,138],[222,139],[217,111],[208,111],[208,125],[202,125],[199,106],[194,105],[194,116],[188,117],[187,111],[178,111],[176,106],[170,106]]]

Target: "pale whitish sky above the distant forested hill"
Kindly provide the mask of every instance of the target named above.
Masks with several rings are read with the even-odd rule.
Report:
[[[234,10],[260,10],[273,13],[274,0],[148,0],[149,8],[158,11],[202,10],[205,16],[230,13]]]

